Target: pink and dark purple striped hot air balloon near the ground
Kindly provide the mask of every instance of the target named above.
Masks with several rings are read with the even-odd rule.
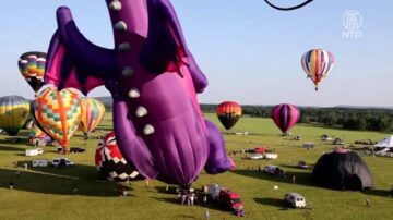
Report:
[[[299,121],[300,111],[290,103],[281,103],[273,108],[272,119],[284,135]]]

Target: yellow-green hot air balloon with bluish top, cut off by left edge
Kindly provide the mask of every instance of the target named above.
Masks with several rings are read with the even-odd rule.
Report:
[[[0,98],[0,127],[15,136],[28,119],[29,103],[21,96]]]

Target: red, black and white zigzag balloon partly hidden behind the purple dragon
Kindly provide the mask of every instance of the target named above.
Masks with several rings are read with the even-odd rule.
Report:
[[[135,181],[144,179],[121,155],[114,132],[99,140],[95,154],[95,164],[103,180]]]

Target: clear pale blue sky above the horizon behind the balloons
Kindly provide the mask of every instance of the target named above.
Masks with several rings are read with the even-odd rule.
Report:
[[[286,5],[300,1],[272,0]],[[207,89],[199,95],[200,102],[393,107],[391,0],[314,0],[291,12],[276,11],[263,0],[171,2],[188,46],[210,81]],[[60,5],[71,9],[87,39],[114,47],[104,0],[1,0],[0,96],[33,98],[33,90],[17,70],[17,58],[26,51],[47,51]],[[347,10],[361,14],[360,38],[342,36]],[[312,48],[335,56],[335,66],[317,93],[300,64],[302,53]],[[100,87],[88,96],[108,95]]]

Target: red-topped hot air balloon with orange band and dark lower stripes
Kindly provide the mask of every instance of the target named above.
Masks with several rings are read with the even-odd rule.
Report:
[[[217,107],[217,117],[225,129],[229,130],[241,117],[241,107],[235,101],[224,101]]]

